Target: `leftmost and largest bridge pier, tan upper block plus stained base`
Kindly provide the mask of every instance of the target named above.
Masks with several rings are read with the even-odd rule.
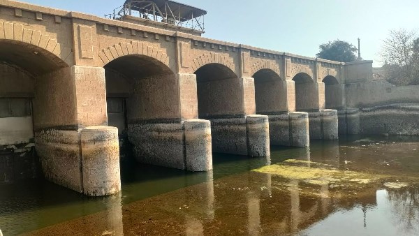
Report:
[[[103,68],[61,68],[36,78],[35,90],[35,148],[45,178],[88,196],[119,192],[118,135],[106,126]]]

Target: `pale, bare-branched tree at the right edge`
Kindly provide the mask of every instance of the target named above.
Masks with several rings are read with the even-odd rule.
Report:
[[[419,38],[414,31],[391,30],[380,55],[386,61],[385,80],[396,85],[419,84]]]

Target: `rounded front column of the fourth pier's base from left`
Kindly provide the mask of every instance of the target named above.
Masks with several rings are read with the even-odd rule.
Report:
[[[307,112],[290,112],[290,144],[294,147],[310,145],[309,114]]]

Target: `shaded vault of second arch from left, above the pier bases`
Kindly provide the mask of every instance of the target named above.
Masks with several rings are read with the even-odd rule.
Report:
[[[155,57],[127,54],[105,68],[108,123],[119,135],[141,122],[179,119],[179,83],[168,64]]]

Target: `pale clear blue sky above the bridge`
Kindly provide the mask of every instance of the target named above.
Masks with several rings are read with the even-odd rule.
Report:
[[[22,0],[21,0],[22,1]],[[378,52],[390,29],[416,30],[418,0],[177,0],[207,10],[207,38],[316,57],[318,45],[346,40],[380,66]],[[124,0],[26,0],[103,16]]]

